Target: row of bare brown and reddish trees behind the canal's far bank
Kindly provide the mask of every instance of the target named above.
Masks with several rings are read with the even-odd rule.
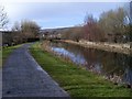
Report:
[[[82,26],[75,26],[63,33],[63,38],[87,40],[91,42],[125,43],[132,41],[132,24],[123,9],[110,10],[100,14],[99,20],[87,14]]]

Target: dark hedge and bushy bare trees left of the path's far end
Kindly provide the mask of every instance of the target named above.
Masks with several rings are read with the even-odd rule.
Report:
[[[30,20],[15,22],[10,32],[2,33],[2,43],[15,45],[38,40],[40,26]]]

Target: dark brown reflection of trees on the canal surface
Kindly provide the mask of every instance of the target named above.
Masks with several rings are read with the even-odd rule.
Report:
[[[123,77],[125,81],[131,80],[132,82],[132,56],[95,48],[84,48],[81,46],[67,43],[55,43],[53,46],[64,47],[68,52],[74,53],[75,56],[81,55],[86,61],[86,67],[90,70],[99,69],[102,75],[116,79],[117,77]]]

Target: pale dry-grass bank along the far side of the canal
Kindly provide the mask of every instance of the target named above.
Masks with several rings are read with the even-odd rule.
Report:
[[[123,53],[123,54],[132,54],[132,48],[130,44],[116,44],[116,43],[107,43],[107,42],[88,42],[85,40],[80,40],[79,42],[70,41],[70,40],[61,40],[61,42],[70,43],[80,45],[84,47],[97,48],[108,52]]]

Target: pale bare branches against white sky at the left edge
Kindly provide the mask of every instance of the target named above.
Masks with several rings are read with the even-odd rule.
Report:
[[[0,7],[0,29],[3,30],[7,26],[8,22],[8,14],[4,11],[4,8]]]

